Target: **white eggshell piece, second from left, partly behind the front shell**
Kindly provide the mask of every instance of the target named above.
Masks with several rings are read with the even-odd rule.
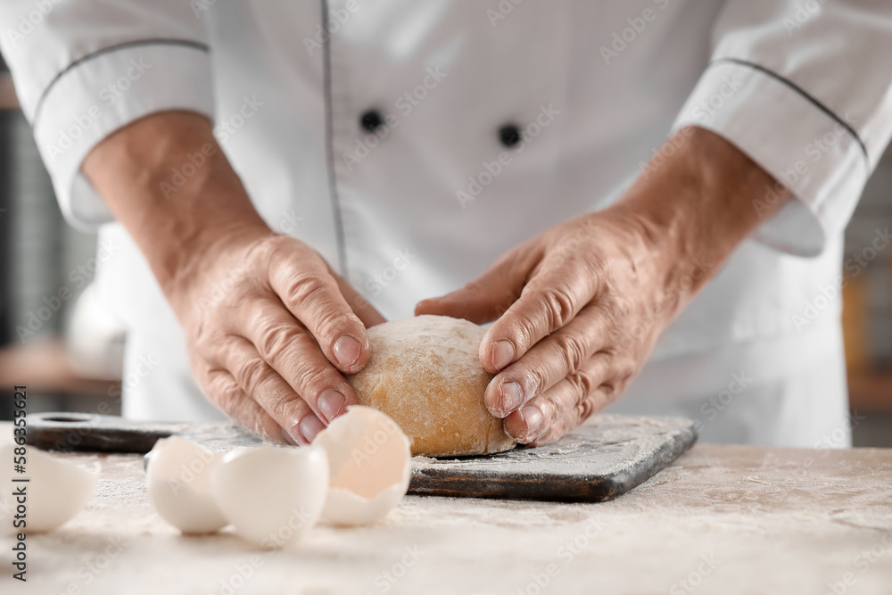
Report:
[[[223,453],[178,436],[155,442],[145,483],[158,514],[183,533],[213,533],[228,525],[211,490]]]

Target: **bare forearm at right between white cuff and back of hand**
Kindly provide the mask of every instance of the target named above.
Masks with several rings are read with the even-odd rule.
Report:
[[[683,128],[613,209],[631,218],[663,272],[664,293],[678,310],[731,252],[790,195],[765,211],[775,180],[746,154],[703,128]],[[756,208],[756,207],[759,208]]]

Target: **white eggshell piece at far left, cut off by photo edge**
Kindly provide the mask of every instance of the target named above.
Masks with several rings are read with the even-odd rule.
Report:
[[[86,469],[26,446],[25,473],[15,473],[13,458],[22,456],[16,454],[17,448],[22,447],[14,443],[0,446],[0,461],[3,461],[0,478],[4,486],[0,495],[0,523],[6,533],[53,531],[78,514],[93,497],[99,481],[99,466]],[[24,478],[29,481],[12,481]],[[17,495],[17,490],[24,490],[24,495]],[[20,498],[25,501],[19,501]],[[19,505],[25,508],[24,526],[13,525],[13,521],[22,520],[14,518],[19,514]]]

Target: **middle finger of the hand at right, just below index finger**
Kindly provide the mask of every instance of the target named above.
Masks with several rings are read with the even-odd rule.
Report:
[[[594,304],[570,324],[542,339],[524,357],[504,368],[483,393],[496,417],[506,417],[566,376],[577,372],[607,343],[607,313]]]

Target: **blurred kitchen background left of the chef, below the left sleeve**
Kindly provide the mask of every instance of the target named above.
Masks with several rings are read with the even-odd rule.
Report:
[[[0,391],[26,384],[29,411],[120,410],[124,336],[95,314],[89,283],[70,277],[95,265],[95,249],[94,234],[62,219],[0,59]],[[11,401],[0,400],[0,419]]]

